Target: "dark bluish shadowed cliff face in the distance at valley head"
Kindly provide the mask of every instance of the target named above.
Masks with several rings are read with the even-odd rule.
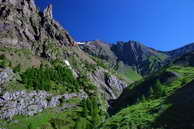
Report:
[[[158,70],[162,66],[162,61],[167,58],[165,53],[136,41],[118,42],[111,49],[120,61],[134,67],[142,75],[148,75]]]

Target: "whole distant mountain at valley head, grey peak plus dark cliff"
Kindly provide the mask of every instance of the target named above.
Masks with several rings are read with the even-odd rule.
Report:
[[[121,73],[129,68],[143,76],[158,70],[162,62],[168,58],[165,52],[146,47],[136,41],[116,44],[92,41],[81,45],[81,48],[92,56],[107,60]]]

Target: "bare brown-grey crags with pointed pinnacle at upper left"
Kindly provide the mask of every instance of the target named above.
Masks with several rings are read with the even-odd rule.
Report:
[[[42,54],[48,42],[58,47],[74,43],[53,19],[51,5],[39,12],[34,0],[0,0],[1,46],[29,48]]]

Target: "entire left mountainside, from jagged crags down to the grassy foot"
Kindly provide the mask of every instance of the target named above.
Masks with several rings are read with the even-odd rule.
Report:
[[[127,85],[75,44],[51,5],[0,0],[0,128],[96,128]]]

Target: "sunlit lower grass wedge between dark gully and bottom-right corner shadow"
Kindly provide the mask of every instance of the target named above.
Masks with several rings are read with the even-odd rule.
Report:
[[[162,103],[163,100],[158,99],[130,106],[109,118],[100,129],[150,129],[155,118],[170,107]]]

